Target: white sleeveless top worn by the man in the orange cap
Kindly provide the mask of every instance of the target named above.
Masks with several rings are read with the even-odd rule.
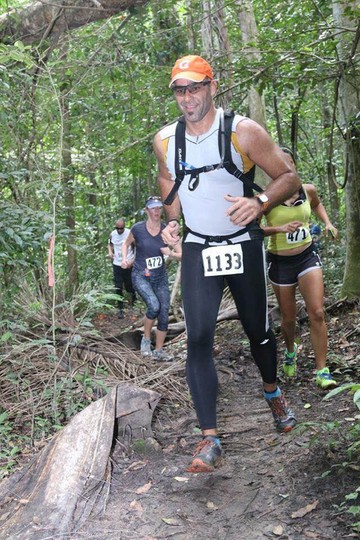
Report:
[[[219,122],[221,109],[217,109],[213,125],[207,133],[200,136],[193,136],[186,133],[186,163],[193,167],[203,167],[220,162],[219,154]],[[235,115],[232,131],[242,119]],[[166,126],[160,131],[160,137],[164,141],[166,148],[166,164],[175,179],[175,130],[177,122]],[[244,170],[244,160],[241,154],[236,152],[231,144],[231,154],[235,165],[241,171]],[[249,161],[249,160],[248,160]],[[189,168],[189,167],[187,167]],[[180,185],[178,194],[185,217],[186,225],[193,231],[207,236],[227,236],[241,230],[233,225],[226,215],[226,210],[231,206],[224,199],[225,195],[244,195],[243,183],[228,173],[226,169],[218,169],[200,174],[199,185],[194,191],[189,189],[190,175],[186,175]],[[249,240],[249,234],[245,233],[232,239],[232,242]],[[189,234],[186,241],[203,244],[204,239]],[[226,243],[226,242],[224,242]],[[219,244],[218,244],[219,245]]]

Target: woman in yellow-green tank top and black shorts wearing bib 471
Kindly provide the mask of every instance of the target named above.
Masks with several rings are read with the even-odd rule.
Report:
[[[292,154],[290,156],[292,158]],[[270,210],[264,216],[266,224],[262,228],[265,236],[269,236],[268,276],[279,304],[281,332],[286,345],[284,374],[289,378],[296,376],[296,288],[299,287],[310,321],[316,384],[326,389],[337,383],[326,367],[328,335],[324,316],[324,283],[320,257],[310,234],[312,212],[324,223],[326,235],[330,233],[337,238],[338,231],[313,184],[303,184],[300,191],[285,203]]]

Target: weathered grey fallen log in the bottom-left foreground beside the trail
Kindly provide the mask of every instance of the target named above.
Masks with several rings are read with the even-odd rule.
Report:
[[[114,443],[128,442],[129,430],[131,441],[151,437],[159,399],[157,392],[124,383],[74,416],[29,465],[1,482],[1,538],[68,537],[103,511]]]

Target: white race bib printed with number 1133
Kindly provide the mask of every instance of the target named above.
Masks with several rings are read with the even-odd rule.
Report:
[[[243,252],[240,244],[212,246],[202,252],[204,275],[227,276],[243,274]]]

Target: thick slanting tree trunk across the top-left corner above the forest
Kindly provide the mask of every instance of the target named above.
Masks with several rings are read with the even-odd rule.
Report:
[[[148,0],[43,0],[0,16],[0,41],[38,43],[86,24],[108,19]]]

